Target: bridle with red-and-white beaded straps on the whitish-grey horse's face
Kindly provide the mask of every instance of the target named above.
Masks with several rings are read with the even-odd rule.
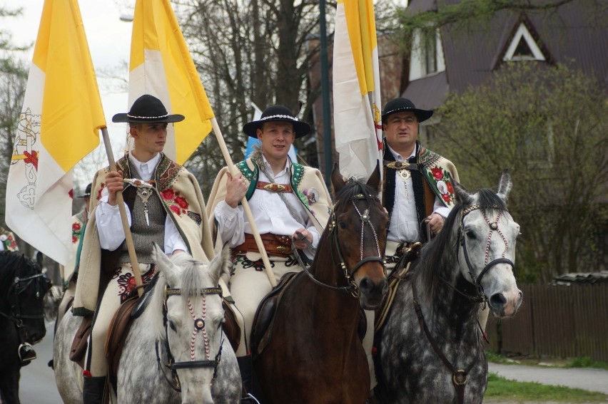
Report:
[[[209,341],[207,338],[207,330],[206,330],[206,323],[205,323],[205,317],[206,317],[206,311],[207,311],[207,306],[206,306],[206,296],[208,294],[218,294],[220,295],[220,297],[222,296],[222,289],[220,286],[217,286],[215,288],[206,288],[201,290],[201,296],[203,296],[203,310],[202,310],[202,314],[200,317],[197,317],[194,314],[194,310],[191,304],[190,299],[188,299],[188,311],[190,311],[190,315],[194,321],[194,329],[192,331],[192,338],[190,341],[190,361],[188,362],[176,362],[175,359],[173,359],[173,355],[171,354],[171,347],[169,346],[169,339],[168,339],[168,331],[167,331],[167,299],[170,296],[178,296],[181,295],[181,289],[173,289],[173,288],[168,288],[165,286],[165,299],[163,301],[163,326],[165,326],[165,351],[167,352],[167,358],[168,358],[168,363],[165,365],[166,368],[168,368],[171,371],[171,379],[169,379],[165,373],[165,371],[163,370],[163,368],[161,367],[161,356],[160,353],[158,351],[158,339],[156,339],[156,362],[158,363],[158,369],[161,370],[161,373],[163,373],[163,376],[165,377],[165,380],[167,380],[167,382],[169,383],[169,385],[171,385],[171,388],[173,388],[173,390],[176,391],[180,391],[181,392],[181,384],[179,381],[179,377],[177,374],[177,370],[178,369],[186,369],[186,368],[213,368],[213,378],[212,380],[215,380],[217,374],[218,374],[218,365],[221,361],[221,356],[222,356],[222,346],[223,346],[223,331],[221,331],[221,341],[220,341],[220,349],[218,350],[217,355],[215,356],[215,358],[210,359],[209,356]],[[221,324],[220,324],[221,327]],[[194,347],[195,347],[195,342],[196,342],[196,335],[198,334],[198,332],[201,332],[203,334],[203,341],[205,344],[205,356],[206,356],[206,360],[203,361],[195,361],[195,351],[194,351]]]

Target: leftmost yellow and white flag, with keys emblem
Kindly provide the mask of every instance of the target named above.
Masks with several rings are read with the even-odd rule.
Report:
[[[60,264],[72,254],[72,168],[106,126],[76,0],[45,0],[6,183],[6,224]]]

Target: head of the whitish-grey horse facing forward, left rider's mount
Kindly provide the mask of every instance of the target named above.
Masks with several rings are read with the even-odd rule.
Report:
[[[229,250],[224,249],[209,263],[196,261],[186,253],[168,259],[156,244],[153,254],[160,274],[155,306],[163,302],[158,338],[167,353],[170,373],[181,388],[182,403],[213,403],[211,383],[225,338],[218,285],[229,269]]]

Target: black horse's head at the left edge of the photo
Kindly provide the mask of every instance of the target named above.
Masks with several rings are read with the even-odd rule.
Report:
[[[40,256],[41,257],[41,256]],[[0,311],[16,324],[28,343],[37,343],[46,335],[44,295],[51,287],[39,262],[20,252],[0,252]]]

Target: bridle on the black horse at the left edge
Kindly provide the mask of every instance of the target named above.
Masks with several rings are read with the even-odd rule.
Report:
[[[13,283],[11,286],[9,286],[9,291],[6,294],[6,300],[9,302],[10,312],[7,314],[0,311],[1,316],[8,318],[15,324],[19,339],[21,341],[19,348],[17,348],[17,352],[19,353],[19,361],[24,364],[36,359],[36,352],[31,346],[31,343],[34,341],[31,341],[27,327],[24,324],[24,319],[41,320],[44,318],[44,314],[42,312],[41,314],[22,314],[19,295],[28,289],[32,282],[35,282],[36,299],[39,299],[43,294],[43,291],[41,291],[39,278],[43,276],[44,274],[26,276],[25,278],[15,276]]]

